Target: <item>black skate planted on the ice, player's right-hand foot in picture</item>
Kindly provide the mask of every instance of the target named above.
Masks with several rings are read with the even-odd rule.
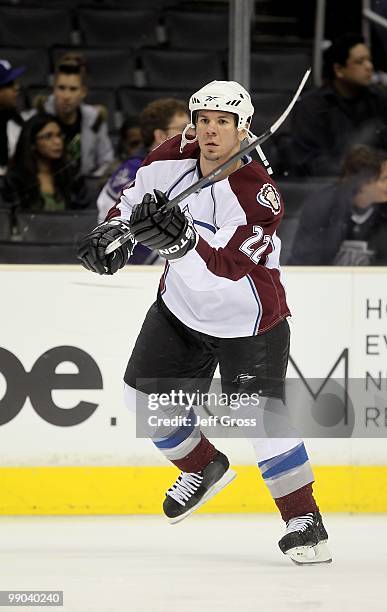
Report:
[[[330,563],[332,555],[327,546],[328,534],[319,512],[308,512],[286,523],[286,534],[278,546],[297,565]]]

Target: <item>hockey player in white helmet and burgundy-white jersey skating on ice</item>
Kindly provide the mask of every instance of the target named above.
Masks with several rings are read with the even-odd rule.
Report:
[[[279,268],[276,231],[283,202],[276,185],[261,164],[245,157],[180,207],[165,210],[169,199],[253,137],[251,98],[234,81],[213,81],[191,96],[189,109],[191,123],[183,134],[148,155],[105,223],[83,238],[78,257],[93,272],[114,274],[138,241],[166,259],[157,300],[124,376],[129,409],[137,404],[137,410],[145,410],[150,394],[170,394],[176,381],[186,392],[190,385],[208,390],[218,364],[228,393],[282,402],[290,312]],[[187,140],[192,129],[196,135]],[[128,229],[132,243],[106,255],[106,247]],[[170,414],[187,416],[187,410],[171,405]],[[235,477],[228,458],[200,431],[194,417],[191,409],[182,425],[150,434],[181,470],[164,501],[170,522],[191,514]],[[297,563],[330,561],[302,440],[256,437],[252,443],[286,523],[280,549]]]

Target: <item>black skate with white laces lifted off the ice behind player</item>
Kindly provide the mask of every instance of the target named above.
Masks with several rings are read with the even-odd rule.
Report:
[[[234,480],[236,474],[229,467],[226,455],[218,451],[201,472],[181,472],[164,500],[168,521],[182,521]]]

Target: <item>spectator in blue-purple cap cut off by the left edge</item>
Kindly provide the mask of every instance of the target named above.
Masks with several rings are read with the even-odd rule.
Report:
[[[7,171],[8,160],[23,125],[23,118],[17,111],[17,79],[24,71],[24,66],[12,68],[7,60],[0,59],[0,176]]]

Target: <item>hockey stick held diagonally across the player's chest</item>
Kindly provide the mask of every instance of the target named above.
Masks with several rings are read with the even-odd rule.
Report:
[[[305,72],[304,76],[302,77],[301,83],[299,84],[296,93],[294,94],[292,100],[290,101],[289,106],[284,110],[282,115],[278,117],[277,121],[275,121],[273,125],[269,127],[268,130],[266,130],[266,132],[263,132],[263,134],[258,136],[255,140],[253,140],[252,142],[247,144],[245,147],[237,151],[237,153],[235,153],[232,157],[230,157],[223,164],[215,168],[215,170],[210,172],[210,174],[207,174],[207,176],[203,176],[196,183],[194,183],[193,185],[191,185],[190,187],[188,187],[187,189],[179,193],[179,195],[177,195],[175,198],[170,200],[160,210],[161,211],[171,210],[171,208],[174,208],[175,206],[180,204],[180,202],[188,198],[188,196],[190,196],[192,193],[200,191],[201,189],[203,189],[203,187],[207,187],[207,185],[210,185],[213,182],[213,180],[216,179],[217,176],[219,176],[225,170],[227,170],[227,168],[235,164],[235,162],[239,161],[244,155],[247,155],[248,153],[250,153],[250,151],[252,151],[256,147],[266,142],[266,140],[268,140],[270,136],[272,136],[274,132],[278,130],[278,128],[283,124],[285,119],[288,117],[293,106],[297,102],[298,96],[303,90],[304,85],[306,81],[308,80],[310,73],[311,73],[311,69],[308,68],[308,70]],[[123,234],[122,236],[120,236],[119,238],[116,238],[116,240],[113,240],[113,242],[111,242],[106,247],[105,255],[109,255],[109,253],[112,253],[113,251],[118,249],[118,247],[120,247],[122,244],[125,244],[125,242],[130,240],[131,237],[132,237],[132,234],[130,232],[127,232]]]

